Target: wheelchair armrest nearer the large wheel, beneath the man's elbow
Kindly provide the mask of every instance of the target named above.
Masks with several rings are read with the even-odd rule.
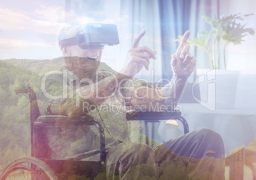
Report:
[[[97,122],[94,120],[92,117],[75,117],[75,118],[70,118],[67,116],[63,115],[41,115],[34,121],[34,127],[45,127],[45,125],[54,125],[56,122],[61,123],[61,124],[75,124],[75,125],[94,125],[97,127],[99,130],[99,153],[100,153],[100,160],[101,162],[104,162],[106,159],[106,145],[105,145],[105,136],[104,136],[104,129]],[[77,156],[74,156],[73,158],[78,158],[87,155],[85,154],[80,154]]]

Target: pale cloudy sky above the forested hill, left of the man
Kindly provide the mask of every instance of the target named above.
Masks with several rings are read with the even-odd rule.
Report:
[[[73,0],[75,1],[79,0]],[[93,6],[99,1],[102,0],[87,2]],[[110,4],[111,8],[118,6],[117,3]],[[86,10],[92,9],[90,6]],[[104,10],[104,6],[99,10]],[[111,16],[115,16],[114,11],[111,12]],[[102,14],[104,15],[104,11]],[[94,21],[75,11],[66,11],[64,0],[0,0],[0,60],[52,59],[61,56],[56,35],[66,18],[81,23]]]

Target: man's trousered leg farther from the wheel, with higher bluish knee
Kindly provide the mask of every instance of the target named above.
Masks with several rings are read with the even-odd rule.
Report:
[[[160,179],[224,179],[224,143],[210,129],[171,139],[153,150]]]

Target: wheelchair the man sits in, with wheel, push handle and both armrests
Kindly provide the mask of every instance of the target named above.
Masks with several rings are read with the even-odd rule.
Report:
[[[3,170],[0,179],[106,179],[106,147],[104,129],[89,117],[71,119],[62,115],[41,115],[39,113],[36,93],[31,87],[18,87],[16,93],[27,93],[30,101],[31,111],[31,157],[20,158],[11,162]],[[127,120],[145,120],[155,122],[159,120],[180,120],[184,127],[184,133],[189,131],[187,121],[181,116],[181,112],[128,112]],[[52,127],[56,122],[73,125],[93,125],[99,131],[99,161],[82,160],[90,157],[90,153],[81,153],[64,159],[52,159],[51,149],[46,138],[46,128]],[[145,124],[146,136],[148,136],[148,125]],[[146,139],[148,143],[148,139]]]

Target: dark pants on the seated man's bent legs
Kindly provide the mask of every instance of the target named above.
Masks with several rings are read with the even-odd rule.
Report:
[[[108,179],[224,179],[224,143],[201,129],[155,148],[142,143],[117,146],[106,157]]]

